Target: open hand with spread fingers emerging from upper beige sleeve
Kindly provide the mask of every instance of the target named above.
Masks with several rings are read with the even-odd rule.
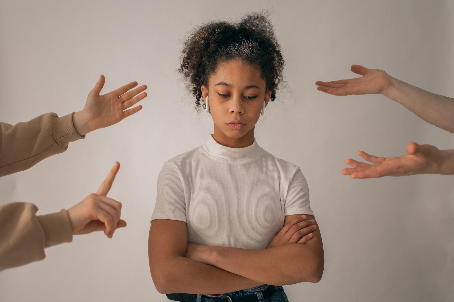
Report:
[[[147,89],[146,85],[128,92],[137,86],[137,82],[132,82],[109,93],[99,95],[104,83],[104,75],[101,75],[98,83],[90,91],[84,109],[73,115],[74,128],[80,136],[114,125],[142,109],[142,106],[139,105],[126,110],[147,96],[147,93],[137,95]]]

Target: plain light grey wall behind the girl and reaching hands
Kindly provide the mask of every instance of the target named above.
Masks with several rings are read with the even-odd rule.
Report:
[[[1,203],[39,214],[97,190],[115,161],[109,196],[128,227],[113,239],[75,236],[44,261],[0,274],[1,301],[168,301],[148,268],[158,172],[212,133],[178,68],[192,27],[272,12],[287,87],[257,124],[260,146],[299,166],[323,237],[320,283],[285,286],[290,301],[452,301],[453,176],[350,180],[344,161],[364,150],[405,153],[410,141],[452,148],[454,136],[381,95],[334,97],[317,80],[352,78],[353,63],[453,96],[452,1],[1,1],[0,120],[79,111],[103,73],[109,92],[148,85],[143,110],[71,143],[64,154],[0,179]]]

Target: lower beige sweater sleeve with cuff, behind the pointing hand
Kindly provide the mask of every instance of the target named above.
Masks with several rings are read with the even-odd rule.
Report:
[[[26,202],[0,205],[0,271],[42,260],[44,248],[73,240],[65,209],[42,216],[37,210]]]

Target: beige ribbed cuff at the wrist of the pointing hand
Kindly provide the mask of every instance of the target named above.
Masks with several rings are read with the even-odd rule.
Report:
[[[65,209],[57,213],[36,216],[44,230],[44,247],[73,241],[73,230]]]

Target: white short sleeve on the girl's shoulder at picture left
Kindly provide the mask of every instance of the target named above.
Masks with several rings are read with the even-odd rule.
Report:
[[[177,166],[166,162],[158,176],[156,203],[151,220],[172,219],[186,222],[184,187]]]

